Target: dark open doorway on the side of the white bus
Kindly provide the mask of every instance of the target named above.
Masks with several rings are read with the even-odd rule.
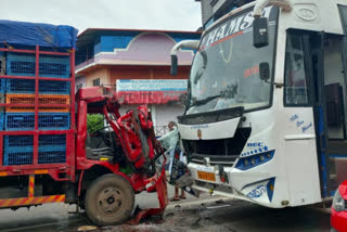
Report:
[[[347,26],[347,8],[340,12]],[[318,158],[326,198],[347,179],[347,36],[310,35],[305,44],[311,54]]]

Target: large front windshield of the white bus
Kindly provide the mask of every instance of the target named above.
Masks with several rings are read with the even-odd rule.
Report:
[[[187,115],[243,106],[252,111],[270,105],[271,83],[259,78],[259,64],[269,63],[271,76],[277,33],[277,7],[269,17],[269,46],[253,47],[253,12],[233,15],[202,38],[194,57]]]

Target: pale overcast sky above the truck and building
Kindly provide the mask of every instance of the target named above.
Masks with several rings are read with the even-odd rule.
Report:
[[[193,30],[201,25],[195,0],[1,0],[0,20],[87,28]]]

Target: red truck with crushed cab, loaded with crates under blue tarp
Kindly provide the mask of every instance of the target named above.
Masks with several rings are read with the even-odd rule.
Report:
[[[137,223],[163,216],[163,150],[145,105],[119,114],[110,88],[75,95],[77,30],[0,21],[0,208],[77,204],[98,225],[130,219],[134,196],[156,192],[159,207],[136,211]],[[88,133],[88,114],[102,115]],[[54,210],[52,208],[52,210]]]

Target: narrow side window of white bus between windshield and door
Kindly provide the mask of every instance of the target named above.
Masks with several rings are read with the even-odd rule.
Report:
[[[287,35],[284,73],[284,105],[308,105],[303,37]]]

